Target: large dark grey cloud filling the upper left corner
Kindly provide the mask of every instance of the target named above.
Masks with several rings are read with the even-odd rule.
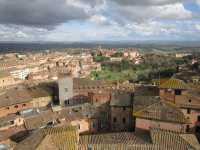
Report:
[[[66,0],[0,0],[0,24],[52,27],[89,16]]]

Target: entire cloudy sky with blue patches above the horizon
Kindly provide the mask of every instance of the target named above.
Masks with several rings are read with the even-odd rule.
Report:
[[[200,40],[200,0],[0,0],[0,41]]]

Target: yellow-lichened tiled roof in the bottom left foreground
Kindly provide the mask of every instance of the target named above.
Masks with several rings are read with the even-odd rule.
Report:
[[[31,136],[20,142],[15,150],[39,149],[70,149],[76,150],[78,135],[76,127],[44,128],[32,133]]]

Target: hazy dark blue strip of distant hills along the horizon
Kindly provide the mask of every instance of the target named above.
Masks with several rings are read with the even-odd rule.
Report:
[[[144,50],[159,49],[163,51],[182,50],[184,48],[198,50],[198,41],[92,41],[92,42],[0,42],[0,53],[20,52],[64,48],[128,48],[136,47]]]

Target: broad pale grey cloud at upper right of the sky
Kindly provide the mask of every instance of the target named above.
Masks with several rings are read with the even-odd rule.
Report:
[[[144,3],[144,1],[146,2],[147,0],[141,0],[140,2],[137,1],[138,2],[137,5],[120,5],[119,3],[112,3],[113,4],[112,7],[109,8],[112,14],[109,13],[107,14],[110,18],[112,18],[121,25],[134,22],[142,23],[149,20],[157,20],[157,19],[188,20],[193,17],[193,13],[185,9],[183,3],[168,4],[168,5],[147,5],[147,6],[139,5],[139,3],[140,4],[142,3],[142,1]],[[164,0],[160,0],[160,2],[161,1],[164,2]],[[172,2],[173,0],[170,1]],[[132,3],[133,2],[136,3],[135,0],[132,0]],[[165,2],[167,1],[165,0]]]

